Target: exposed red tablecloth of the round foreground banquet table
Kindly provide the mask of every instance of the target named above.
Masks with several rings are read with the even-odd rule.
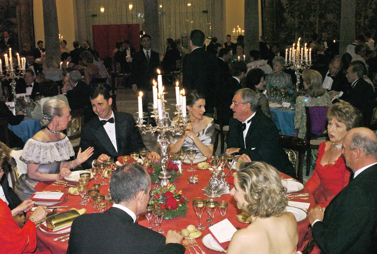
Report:
[[[196,164],[194,164],[193,167],[195,168]],[[190,165],[189,164],[183,164],[183,168],[189,169]],[[176,180],[174,182],[176,187],[178,187],[178,189],[181,189],[183,191],[182,195],[184,195],[185,198],[189,199],[189,202],[187,203],[187,206],[188,206],[187,215],[185,217],[179,216],[179,217],[176,217],[176,218],[173,218],[173,219],[170,219],[170,220],[162,221],[161,229],[163,229],[165,231],[164,235],[166,235],[167,231],[169,231],[169,230],[180,231],[181,229],[186,228],[188,225],[191,225],[191,224],[193,224],[195,226],[198,225],[198,219],[197,219],[195,212],[193,210],[193,207],[192,207],[192,200],[196,197],[202,197],[202,198],[205,198],[205,199],[207,198],[207,197],[204,196],[204,191],[202,191],[202,189],[207,186],[208,181],[210,180],[210,177],[211,177],[210,172],[211,171],[208,170],[208,169],[207,170],[196,170],[195,172],[188,172],[187,170],[184,170],[184,171],[182,171],[183,175],[176,178]],[[228,172],[227,168],[225,169],[225,172]],[[187,183],[187,178],[192,176],[193,174],[198,175],[198,178],[199,178],[199,182],[195,185]],[[290,176],[285,175],[284,173],[280,173],[280,176],[282,178],[291,178]],[[231,177],[231,178],[233,178],[233,177]],[[90,181],[89,188],[94,184],[94,181],[95,181],[94,178]],[[101,181],[101,176],[98,177],[98,182],[100,182],[100,181]],[[76,183],[73,183],[73,184],[76,184]],[[155,184],[152,183],[152,188],[154,187],[154,185]],[[233,185],[231,185],[231,187],[233,187]],[[50,184],[47,187],[45,187],[44,190],[62,190],[63,188],[64,187],[52,186],[52,184]],[[100,193],[107,195],[108,189],[109,189],[108,185],[102,185]],[[295,192],[295,193],[308,193],[308,190],[304,188],[303,190],[301,190],[299,192]],[[228,194],[228,195],[223,195],[221,198],[215,198],[215,199],[218,200],[218,201],[225,200],[229,203],[228,211],[227,211],[227,214],[225,215],[225,218],[228,218],[228,220],[233,224],[234,227],[245,228],[249,225],[247,223],[241,223],[236,219],[236,215],[240,214],[241,210],[237,209],[236,202],[233,199],[233,196]],[[86,208],[86,213],[94,212],[93,206],[90,202],[88,202],[84,206],[79,206],[78,203],[80,203],[80,200],[81,200],[80,195],[70,195],[70,194],[68,194],[67,200],[63,201],[62,203],[56,204],[56,206],[69,206],[69,208],[74,207],[74,208],[77,208],[77,209]],[[307,200],[292,199],[291,201],[310,203],[309,209],[311,209],[315,206],[315,201],[314,201],[314,198],[312,196],[310,196]],[[66,208],[66,209],[68,210],[69,208]],[[58,211],[64,211],[64,210],[58,210]],[[28,214],[29,213],[30,212],[28,212]],[[207,218],[207,212],[203,212],[201,223],[204,226],[207,226],[209,224],[209,222],[205,221],[206,218]],[[219,221],[221,221],[221,215],[220,215],[219,211],[216,211],[215,217],[213,218],[213,222],[218,223]],[[152,219],[151,224],[153,222],[154,222],[154,219]],[[139,215],[138,223],[139,223],[139,225],[143,225],[145,227],[148,226],[148,221],[147,221],[147,219],[145,218],[144,215]],[[308,226],[309,226],[309,219],[308,218],[297,223],[297,227],[298,227],[298,231],[299,231],[299,244],[298,244],[298,246],[301,245],[305,235],[307,234]],[[152,227],[157,228],[156,226],[152,226]],[[58,242],[53,241],[54,238],[59,237],[59,236],[63,236],[64,234],[46,234],[46,233],[41,232],[39,230],[39,228],[37,228],[36,231],[37,231],[37,251],[44,251],[44,250],[48,249],[54,254],[60,254],[60,253],[65,254],[67,252],[68,242],[62,243],[60,241],[58,241]],[[204,245],[202,244],[202,238],[205,235],[209,234],[209,230],[205,229],[202,232],[203,232],[202,236],[196,239],[196,241],[198,242],[198,245],[203,249],[203,251],[206,254],[219,253],[219,252],[216,252],[216,251],[211,251],[210,249],[207,249],[207,248],[204,247]],[[114,237],[115,236],[116,235],[114,234]],[[200,250],[197,247],[196,247],[196,249],[200,252]],[[193,252],[193,253],[195,252],[195,251],[193,251],[192,248],[190,248],[190,251]],[[189,253],[189,251],[186,250],[185,253]]]

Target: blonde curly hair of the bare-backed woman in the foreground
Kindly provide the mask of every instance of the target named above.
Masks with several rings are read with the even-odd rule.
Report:
[[[280,216],[288,205],[287,188],[277,169],[261,162],[242,163],[236,173],[247,205],[242,211],[261,218]]]

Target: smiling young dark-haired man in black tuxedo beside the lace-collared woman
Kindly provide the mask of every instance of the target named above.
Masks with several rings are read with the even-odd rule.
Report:
[[[95,88],[90,94],[90,102],[98,117],[92,118],[81,131],[80,147],[89,144],[94,147],[91,159],[83,163],[85,168],[103,163],[103,160],[110,157],[116,159],[145,148],[133,116],[111,110],[112,98],[109,91],[103,87]],[[156,152],[148,155],[148,158],[159,157]]]

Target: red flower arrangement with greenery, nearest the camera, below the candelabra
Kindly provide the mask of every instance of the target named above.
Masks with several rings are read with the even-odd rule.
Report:
[[[164,219],[169,220],[178,216],[185,217],[187,214],[187,202],[182,196],[182,190],[178,190],[174,184],[156,186],[151,192],[150,203],[156,208],[166,209]]]

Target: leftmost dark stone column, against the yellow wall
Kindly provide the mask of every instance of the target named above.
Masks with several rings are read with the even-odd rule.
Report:
[[[37,14],[34,13],[34,15]],[[43,23],[46,56],[56,57],[57,62],[60,62],[59,26],[56,0],[43,0]]]

